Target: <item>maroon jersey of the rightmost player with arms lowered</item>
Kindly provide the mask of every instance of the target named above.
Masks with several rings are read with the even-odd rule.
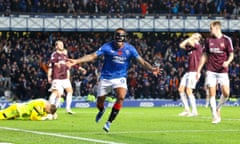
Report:
[[[221,38],[208,38],[206,48],[208,55],[206,69],[217,73],[227,73],[228,68],[222,66],[223,62],[228,59],[229,53],[233,52],[232,40],[230,37],[223,35]]]

